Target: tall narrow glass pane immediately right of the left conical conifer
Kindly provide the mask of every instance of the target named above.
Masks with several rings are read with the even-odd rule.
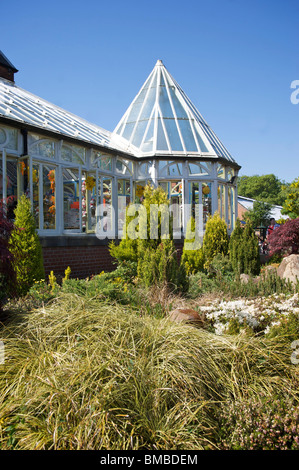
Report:
[[[43,165],[43,228],[56,228],[55,206],[55,180],[56,170],[50,165]]]

